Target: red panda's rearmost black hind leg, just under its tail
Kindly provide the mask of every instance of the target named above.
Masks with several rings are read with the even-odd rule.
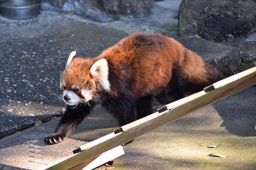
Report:
[[[184,97],[182,75],[178,68],[172,69],[172,78],[168,86],[159,91],[154,97],[163,105]]]

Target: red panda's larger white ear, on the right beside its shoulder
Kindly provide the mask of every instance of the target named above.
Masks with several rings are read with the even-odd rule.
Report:
[[[105,58],[96,61],[91,69],[91,74],[95,77],[96,81],[100,83],[100,85],[106,91],[110,90],[110,84],[108,81],[108,62]]]

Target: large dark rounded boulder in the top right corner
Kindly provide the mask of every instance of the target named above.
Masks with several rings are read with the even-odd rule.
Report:
[[[180,35],[199,35],[220,42],[247,36],[256,30],[254,0],[182,0],[179,8]]]

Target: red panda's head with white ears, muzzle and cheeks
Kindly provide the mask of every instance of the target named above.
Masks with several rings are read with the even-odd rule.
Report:
[[[100,90],[110,90],[105,58],[94,61],[93,58],[75,56],[76,52],[70,53],[66,68],[60,75],[62,99],[72,106],[97,98]]]

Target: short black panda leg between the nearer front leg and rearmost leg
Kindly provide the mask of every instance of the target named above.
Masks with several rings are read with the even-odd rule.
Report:
[[[135,101],[137,119],[148,116],[153,113],[151,106],[152,96],[144,96]]]

